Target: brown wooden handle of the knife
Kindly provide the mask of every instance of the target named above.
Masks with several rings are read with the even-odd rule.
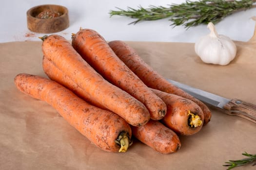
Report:
[[[232,99],[224,105],[229,115],[239,116],[256,123],[256,105],[239,99]]]

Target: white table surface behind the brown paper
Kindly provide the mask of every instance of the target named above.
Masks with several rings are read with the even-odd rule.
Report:
[[[0,5],[0,43],[11,41],[38,41],[37,34],[27,29],[26,12],[41,4],[59,4],[68,8],[70,26],[59,33],[67,39],[80,27],[90,28],[101,34],[107,41],[155,41],[155,42],[195,42],[208,34],[206,25],[186,30],[183,26],[173,28],[168,19],[143,21],[128,25],[135,19],[110,17],[109,11],[116,7],[162,5],[182,3],[185,0],[2,0]],[[256,8],[225,17],[216,24],[217,32],[238,41],[248,41],[254,33]]]

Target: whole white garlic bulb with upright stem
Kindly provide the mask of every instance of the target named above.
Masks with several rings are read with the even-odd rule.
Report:
[[[210,34],[202,36],[195,43],[195,51],[201,60],[205,63],[227,65],[236,56],[236,45],[227,36],[218,34],[212,22],[209,22],[207,28]]]

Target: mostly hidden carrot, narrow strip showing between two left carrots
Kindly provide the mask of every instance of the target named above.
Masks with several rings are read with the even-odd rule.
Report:
[[[75,93],[79,98],[82,98],[86,102],[91,103],[97,107],[102,109],[108,110],[105,108],[100,102],[92,100],[90,95],[84,91],[79,85],[77,85],[71,78],[63,74],[63,72],[57,68],[52,61],[48,60],[46,57],[43,56],[42,60],[42,68],[44,73],[53,81],[59,83],[60,85],[65,86],[73,93]]]

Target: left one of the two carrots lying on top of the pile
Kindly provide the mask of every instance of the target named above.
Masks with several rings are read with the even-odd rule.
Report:
[[[106,81],[64,37],[49,35],[42,39],[44,56],[82,88],[92,101],[101,103],[131,125],[142,126],[149,121],[150,114],[143,103]]]

